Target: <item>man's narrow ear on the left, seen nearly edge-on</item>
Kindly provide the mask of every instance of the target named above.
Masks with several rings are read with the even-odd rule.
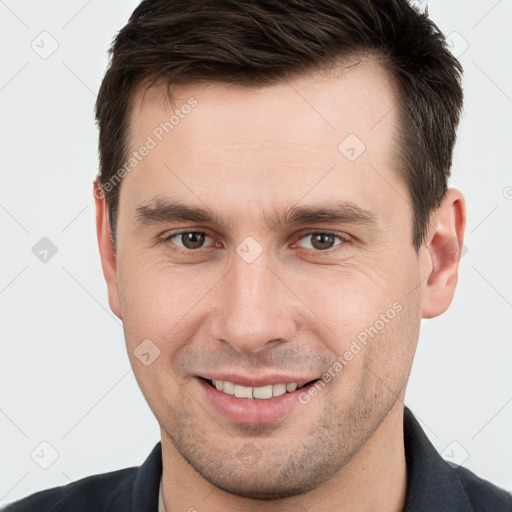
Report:
[[[108,302],[114,314],[121,318],[119,291],[117,288],[117,260],[110,232],[108,206],[105,200],[103,187],[98,180],[93,184],[94,202],[96,204],[96,234],[100,250],[101,267],[107,283]]]

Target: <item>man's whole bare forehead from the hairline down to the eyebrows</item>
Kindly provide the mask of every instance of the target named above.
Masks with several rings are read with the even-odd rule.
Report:
[[[264,204],[306,196],[368,203],[372,186],[381,196],[386,181],[401,187],[393,156],[397,98],[374,62],[264,87],[179,85],[173,105],[165,91],[153,87],[134,98],[130,154],[151,149],[124,178],[122,196],[132,207],[158,195],[207,200],[236,217],[240,208],[256,215]]]

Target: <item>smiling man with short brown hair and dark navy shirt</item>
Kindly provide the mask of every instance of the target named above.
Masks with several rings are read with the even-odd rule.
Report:
[[[512,510],[403,403],[457,283],[460,74],[405,0],[142,2],[94,194],[161,443],[6,510]]]

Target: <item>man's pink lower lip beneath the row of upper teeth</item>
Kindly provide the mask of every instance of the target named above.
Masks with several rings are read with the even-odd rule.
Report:
[[[287,392],[284,395],[267,400],[250,400],[227,395],[222,391],[218,391],[204,379],[198,378],[197,380],[204,389],[206,396],[223,416],[235,423],[245,423],[249,425],[272,423],[273,421],[284,418],[300,404],[299,395],[307,392],[307,390],[315,384],[315,382],[312,382],[291,393]]]

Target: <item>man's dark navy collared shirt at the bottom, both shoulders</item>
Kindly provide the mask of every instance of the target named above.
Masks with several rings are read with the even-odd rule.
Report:
[[[407,494],[404,512],[512,512],[512,494],[437,453],[412,412],[405,408]],[[37,492],[5,512],[157,512],[162,475],[161,443],[140,467],[89,476]],[[168,504],[168,507],[172,505]]]

